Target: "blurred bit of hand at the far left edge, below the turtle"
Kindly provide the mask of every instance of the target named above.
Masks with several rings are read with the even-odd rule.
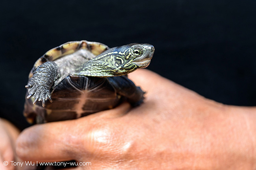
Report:
[[[15,166],[11,166],[11,161],[17,160],[14,144],[18,135],[19,130],[16,127],[0,118],[0,170],[15,169]]]

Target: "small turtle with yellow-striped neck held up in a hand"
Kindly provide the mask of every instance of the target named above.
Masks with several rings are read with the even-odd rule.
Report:
[[[124,100],[136,107],[145,92],[127,74],[147,67],[153,54],[148,43],[109,48],[82,40],[50,49],[29,73],[23,114],[35,124],[77,119]]]

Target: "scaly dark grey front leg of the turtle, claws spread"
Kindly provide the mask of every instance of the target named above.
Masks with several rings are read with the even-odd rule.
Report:
[[[54,84],[58,76],[58,66],[52,61],[47,61],[42,65],[39,65],[33,72],[31,80],[25,87],[28,88],[27,98],[33,97],[35,100],[33,104],[37,101],[42,101],[43,107],[45,107],[45,101],[47,99],[52,102],[50,89]]]

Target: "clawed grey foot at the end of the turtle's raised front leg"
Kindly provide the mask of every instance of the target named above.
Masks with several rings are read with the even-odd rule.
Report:
[[[28,85],[25,86],[28,88],[28,96],[27,98],[34,98],[33,104],[37,103],[37,101],[42,101],[43,107],[45,107],[45,101],[49,99],[49,101],[52,103],[51,93],[50,89],[43,85],[37,85],[33,81],[30,81]]]

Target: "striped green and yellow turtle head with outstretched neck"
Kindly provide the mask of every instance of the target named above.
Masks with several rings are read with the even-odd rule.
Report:
[[[147,43],[131,43],[114,47],[89,60],[79,75],[122,76],[147,67],[153,54],[154,46]]]

